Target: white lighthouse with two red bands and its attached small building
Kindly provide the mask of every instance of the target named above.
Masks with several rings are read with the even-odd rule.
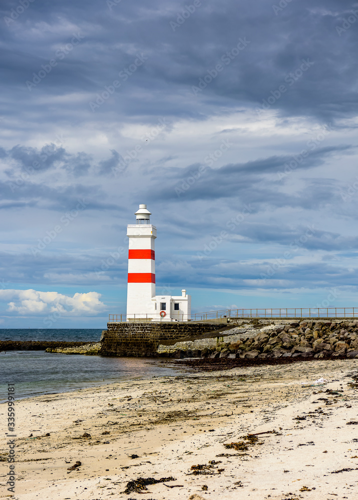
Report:
[[[127,321],[188,321],[191,295],[155,295],[155,250],[157,228],[150,223],[147,205],[139,205],[136,224],[127,225],[129,237]]]

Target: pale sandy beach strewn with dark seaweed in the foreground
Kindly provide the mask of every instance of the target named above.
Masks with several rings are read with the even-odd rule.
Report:
[[[314,385],[321,377],[328,382]],[[340,359],[18,400],[13,498],[353,500],[357,396],[358,360]],[[10,494],[5,409],[1,497]]]

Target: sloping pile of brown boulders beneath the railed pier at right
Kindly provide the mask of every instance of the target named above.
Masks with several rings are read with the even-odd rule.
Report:
[[[167,353],[174,357],[277,358],[277,357],[357,357],[358,321],[304,320],[276,324],[256,336],[221,341],[215,349],[204,348]]]

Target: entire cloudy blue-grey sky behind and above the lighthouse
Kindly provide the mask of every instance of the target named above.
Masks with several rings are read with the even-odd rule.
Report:
[[[358,2],[2,0],[0,327],[105,328],[126,225],[194,312],[358,307]]]

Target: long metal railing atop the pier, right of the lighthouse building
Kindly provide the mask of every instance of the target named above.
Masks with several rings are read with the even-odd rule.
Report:
[[[284,309],[223,309],[209,312],[195,312],[192,320],[217,319],[220,317],[358,317],[358,307],[292,307]]]

